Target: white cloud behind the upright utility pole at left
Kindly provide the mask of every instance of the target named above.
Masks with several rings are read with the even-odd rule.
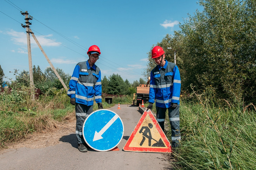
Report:
[[[11,31],[7,31],[6,33],[11,36],[11,40],[13,40],[14,44],[27,45],[27,34],[25,32],[17,32],[17,31],[11,30]],[[61,43],[54,42],[54,40],[46,38],[46,37],[52,37],[52,36],[53,36],[52,34],[49,34],[46,36],[35,35],[36,39],[38,40],[41,46],[59,46]],[[30,39],[31,39],[31,44],[36,45],[36,42],[32,36],[30,36]]]

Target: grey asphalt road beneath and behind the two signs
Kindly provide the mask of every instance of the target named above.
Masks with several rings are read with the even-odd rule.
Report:
[[[0,154],[0,169],[86,169],[86,170],[166,170],[171,169],[166,153],[124,151],[129,136],[137,125],[141,113],[138,107],[131,105],[115,105],[109,110],[117,113],[124,124],[123,139],[117,146],[120,150],[95,151],[88,148],[87,153],[77,149],[74,132],[67,133],[54,146],[31,149],[7,149]]]

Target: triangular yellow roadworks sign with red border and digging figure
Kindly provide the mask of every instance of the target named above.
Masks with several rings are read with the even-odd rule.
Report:
[[[124,145],[123,150],[135,152],[171,152],[171,144],[162,128],[151,110],[146,110]]]

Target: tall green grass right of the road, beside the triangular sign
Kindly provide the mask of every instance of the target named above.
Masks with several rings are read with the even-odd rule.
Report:
[[[203,96],[180,105],[181,147],[175,169],[256,169],[256,109],[214,106]],[[204,100],[203,100],[204,99]]]

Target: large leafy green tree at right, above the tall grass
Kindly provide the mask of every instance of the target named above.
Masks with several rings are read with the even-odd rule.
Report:
[[[180,25],[182,87],[213,87],[216,99],[256,102],[256,3],[200,0]]]

